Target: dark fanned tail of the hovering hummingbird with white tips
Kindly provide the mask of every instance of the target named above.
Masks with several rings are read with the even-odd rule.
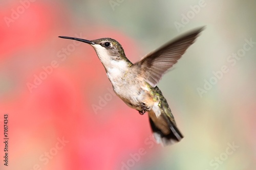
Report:
[[[179,129],[165,114],[161,114],[157,119],[150,117],[150,125],[156,141],[163,145],[179,142],[183,138]]]

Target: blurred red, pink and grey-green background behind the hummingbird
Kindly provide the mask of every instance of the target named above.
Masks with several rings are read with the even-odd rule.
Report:
[[[252,0],[2,0],[0,168],[254,169],[255,6]],[[158,85],[185,136],[164,148],[152,138],[147,115],[114,95],[93,48],[58,38],[112,37],[136,62],[201,26],[196,43]]]

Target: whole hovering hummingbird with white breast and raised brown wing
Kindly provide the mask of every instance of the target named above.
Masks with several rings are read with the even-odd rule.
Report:
[[[165,72],[177,63],[187,48],[194,43],[203,29],[195,29],[167,42],[136,63],[126,58],[121,44],[115,39],[59,37],[90,44],[104,66],[116,95],[141,115],[147,112],[157,143],[167,145],[180,141],[183,135],[157,84]]]

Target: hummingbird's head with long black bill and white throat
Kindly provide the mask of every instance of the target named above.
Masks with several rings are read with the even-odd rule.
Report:
[[[112,38],[86,40],[81,38],[59,36],[60,38],[73,39],[90,44],[96,51],[105,69],[108,67],[131,66],[132,63],[125,57],[122,45]]]

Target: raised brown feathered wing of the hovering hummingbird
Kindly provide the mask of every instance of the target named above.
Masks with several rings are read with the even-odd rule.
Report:
[[[145,81],[152,87],[156,87],[164,73],[172,67],[187,48],[194,43],[199,33],[204,28],[191,31],[173,41],[160,47],[158,50],[143,57],[133,66],[139,67],[140,72],[145,75]]]

